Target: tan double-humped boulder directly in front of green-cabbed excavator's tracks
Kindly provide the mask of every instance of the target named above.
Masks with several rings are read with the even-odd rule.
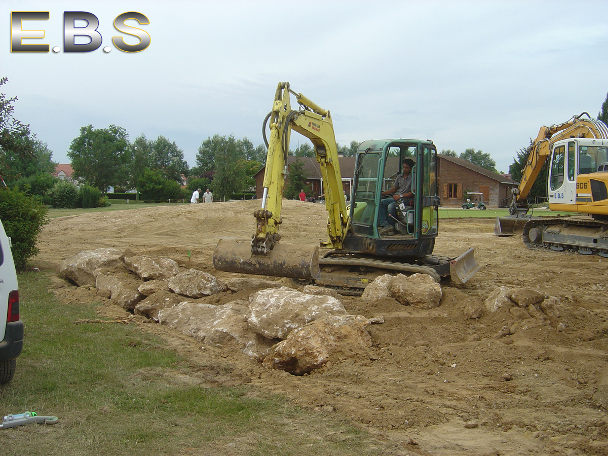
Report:
[[[391,297],[402,305],[411,305],[420,309],[432,309],[441,301],[441,285],[430,275],[390,274],[376,277],[376,280],[365,287],[361,299],[377,301]]]

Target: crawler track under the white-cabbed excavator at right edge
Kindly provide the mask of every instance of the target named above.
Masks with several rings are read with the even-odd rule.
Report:
[[[532,219],[523,227],[530,249],[600,255],[608,258],[608,221],[584,218]]]

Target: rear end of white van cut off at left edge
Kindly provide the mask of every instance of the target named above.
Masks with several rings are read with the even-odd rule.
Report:
[[[0,221],[0,384],[15,375],[15,359],[23,348],[23,322],[19,318],[19,286],[10,240]]]

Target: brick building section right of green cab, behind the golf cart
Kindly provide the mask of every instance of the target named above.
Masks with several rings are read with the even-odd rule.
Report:
[[[500,207],[511,197],[515,183],[501,174],[457,157],[437,154],[441,206],[461,206],[466,192],[483,193],[486,206]]]

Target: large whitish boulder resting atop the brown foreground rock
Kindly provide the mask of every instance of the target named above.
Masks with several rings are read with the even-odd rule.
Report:
[[[252,294],[249,309],[249,327],[268,339],[285,339],[292,330],[313,320],[346,314],[336,298],[304,294],[286,286]]]

